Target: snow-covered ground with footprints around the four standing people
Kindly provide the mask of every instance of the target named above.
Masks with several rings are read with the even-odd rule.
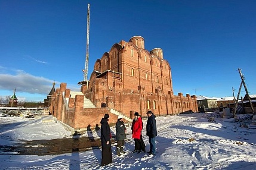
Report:
[[[113,146],[111,165],[100,166],[101,149],[45,156],[0,152],[0,169],[256,169],[256,129],[239,127],[239,122],[232,122],[233,119],[215,118],[216,123],[211,123],[207,115],[157,117],[158,136],[153,157],[143,152],[131,153],[134,140],[131,139],[131,127],[127,125],[127,153],[118,157]],[[0,117],[0,145],[72,137],[60,122],[51,119],[51,116]],[[146,121],[143,119],[144,125]],[[114,127],[112,131],[115,134]],[[98,136],[95,131],[92,135]],[[149,151],[145,129],[143,139]]]

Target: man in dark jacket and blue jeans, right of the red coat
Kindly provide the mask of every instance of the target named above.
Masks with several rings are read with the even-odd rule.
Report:
[[[146,135],[149,137],[150,150],[149,155],[156,154],[156,144],[155,137],[158,135],[156,131],[156,119],[152,111],[147,112],[147,125],[146,125]]]

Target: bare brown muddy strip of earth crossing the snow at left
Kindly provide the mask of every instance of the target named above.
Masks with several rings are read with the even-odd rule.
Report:
[[[112,139],[112,143],[116,143]],[[0,154],[18,155],[59,155],[62,153],[84,152],[101,147],[101,140],[97,138],[75,137],[56,138],[51,140],[24,141],[16,146],[1,146]]]

